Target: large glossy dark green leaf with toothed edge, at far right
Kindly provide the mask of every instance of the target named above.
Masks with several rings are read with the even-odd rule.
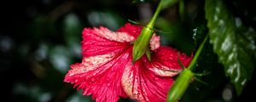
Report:
[[[255,31],[232,16],[222,0],[207,0],[205,10],[213,50],[237,94],[241,94],[255,67]]]

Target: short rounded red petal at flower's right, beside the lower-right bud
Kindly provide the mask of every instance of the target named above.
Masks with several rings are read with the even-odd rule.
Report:
[[[178,52],[174,48],[160,47],[152,53],[152,66],[149,66],[150,71],[154,71],[155,74],[161,77],[173,77],[177,75],[175,71],[181,71],[182,67],[178,64],[177,54],[182,64],[187,67],[192,57]]]

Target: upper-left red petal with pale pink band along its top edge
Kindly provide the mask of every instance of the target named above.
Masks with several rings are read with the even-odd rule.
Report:
[[[126,32],[109,31],[108,28],[85,28],[83,31],[82,50],[84,57],[90,57],[110,52],[119,54],[135,40]]]

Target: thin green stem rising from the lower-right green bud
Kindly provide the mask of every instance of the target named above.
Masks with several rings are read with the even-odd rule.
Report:
[[[193,71],[196,65],[196,60],[198,59],[199,55],[201,54],[202,48],[204,48],[205,43],[207,42],[208,36],[204,39],[204,41],[201,43],[200,47],[197,49],[194,58],[191,60],[188,69],[190,71]]]

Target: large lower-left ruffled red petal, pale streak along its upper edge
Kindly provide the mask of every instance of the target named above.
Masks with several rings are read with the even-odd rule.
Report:
[[[81,64],[71,65],[64,82],[74,83],[74,87],[83,89],[85,95],[92,94],[97,102],[116,102],[126,94],[121,85],[121,77],[131,60],[131,47],[123,54],[104,54],[84,58]]]

